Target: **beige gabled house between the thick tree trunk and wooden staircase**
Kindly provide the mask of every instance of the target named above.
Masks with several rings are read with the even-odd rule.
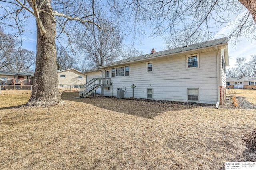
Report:
[[[79,88],[86,83],[86,74],[71,68],[68,70],[58,70],[59,87],[72,86]]]

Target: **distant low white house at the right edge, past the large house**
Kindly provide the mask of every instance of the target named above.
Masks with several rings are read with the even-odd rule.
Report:
[[[256,77],[227,78],[227,88],[256,89]]]

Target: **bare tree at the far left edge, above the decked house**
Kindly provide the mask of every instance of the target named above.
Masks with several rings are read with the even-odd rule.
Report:
[[[0,29],[0,70],[10,66],[15,61],[14,51],[17,44],[18,42],[15,41],[12,35],[5,34]]]

